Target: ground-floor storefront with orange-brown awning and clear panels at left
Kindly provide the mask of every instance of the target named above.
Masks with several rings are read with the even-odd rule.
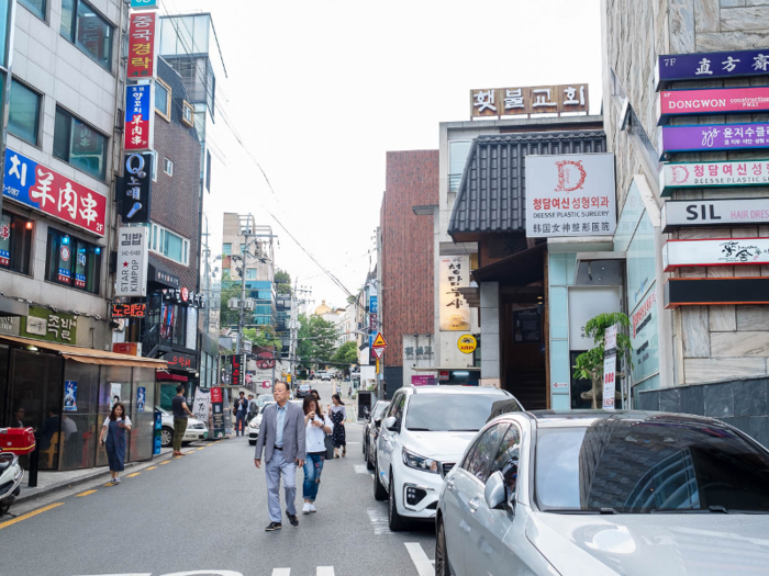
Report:
[[[133,422],[126,462],[154,447],[155,371],[164,360],[0,335],[0,428],[21,422],[38,434],[41,470],[107,465],[99,445],[115,402]]]

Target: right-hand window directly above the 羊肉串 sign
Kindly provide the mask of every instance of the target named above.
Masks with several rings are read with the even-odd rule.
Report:
[[[107,137],[56,108],[54,156],[99,180],[104,180]]]

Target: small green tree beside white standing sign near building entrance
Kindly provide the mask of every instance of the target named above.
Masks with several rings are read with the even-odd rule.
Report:
[[[598,400],[603,396],[603,386],[600,384],[603,382],[603,355],[606,328],[615,324],[618,325],[621,329],[627,328],[631,325],[627,316],[621,312],[599,314],[594,318],[590,318],[584,325],[584,334],[593,339],[595,346],[587,352],[579,354],[577,357],[577,363],[573,365],[573,376],[576,379],[587,379],[593,382],[590,392],[582,394],[583,399],[592,399],[593,409],[598,408]],[[617,330],[616,355],[618,359],[624,360],[624,363],[631,368],[633,368],[632,352],[633,345],[631,343],[631,339]],[[624,375],[624,373],[617,374],[620,377]]]

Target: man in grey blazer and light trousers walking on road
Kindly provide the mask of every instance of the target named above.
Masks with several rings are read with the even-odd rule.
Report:
[[[297,466],[304,465],[305,425],[304,411],[288,402],[289,386],[286,382],[276,382],[272,387],[276,404],[265,408],[256,441],[254,464],[261,467],[261,450],[265,450],[265,473],[267,475],[267,501],[270,523],[267,532],[280,530],[280,475],[283,475],[286,490],[286,516],[291,526],[299,526],[297,508]]]

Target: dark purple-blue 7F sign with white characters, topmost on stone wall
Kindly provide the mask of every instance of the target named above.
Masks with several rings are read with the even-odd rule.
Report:
[[[769,48],[659,56],[655,86],[672,80],[702,80],[769,75]]]

